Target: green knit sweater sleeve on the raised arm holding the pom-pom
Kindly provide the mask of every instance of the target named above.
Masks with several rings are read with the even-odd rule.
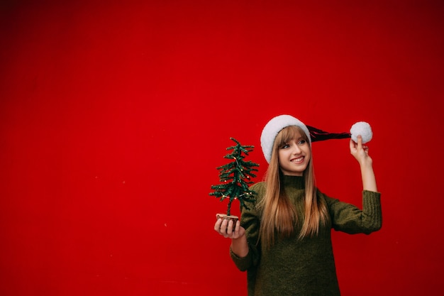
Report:
[[[379,192],[363,190],[362,210],[353,204],[326,197],[333,229],[348,234],[370,234],[381,229],[380,197]]]

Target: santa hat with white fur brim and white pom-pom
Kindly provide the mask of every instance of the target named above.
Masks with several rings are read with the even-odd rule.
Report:
[[[306,126],[302,121],[293,116],[279,115],[268,121],[260,136],[260,146],[262,146],[262,152],[264,153],[267,163],[270,163],[272,158],[274,139],[279,131],[282,131],[282,129],[287,126],[299,126],[299,128],[304,131],[307,138],[309,138],[310,145],[311,142],[325,141],[334,138],[352,138],[353,141],[357,142],[357,136],[359,135],[362,136],[362,143],[367,143],[372,140],[373,136],[370,124],[367,124],[367,122],[364,121],[353,124],[350,133],[328,133],[321,129],[313,128],[312,126]]]

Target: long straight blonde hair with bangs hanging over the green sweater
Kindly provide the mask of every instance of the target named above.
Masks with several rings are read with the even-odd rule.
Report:
[[[294,232],[296,223],[302,219],[299,239],[306,236],[318,234],[319,222],[325,224],[327,220],[327,207],[323,202],[319,202],[316,197],[316,184],[313,172],[313,157],[310,158],[309,165],[304,170],[305,199],[304,217],[298,217],[294,205],[290,202],[282,186],[282,171],[279,168],[279,148],[284,143],[301,136],[309,143],[306,133],[298,126],[287,126],[277,134],[272,150],[272,158],[268,166],[265,182],[267,190],[265,197],[260,201],[258,207],[262,209],[262,219],[260,223],[260,239],[262,245],[270,248],[274,244],[275,233],[279,238],[289,237]],[[311,147],[310,147],[311,150]]]

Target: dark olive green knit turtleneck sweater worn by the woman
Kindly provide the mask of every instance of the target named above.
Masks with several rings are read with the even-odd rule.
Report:
[[[299,217],[304,213],[304,178],[284,176],[284,189],[295,206]],[[231,251],[231,258],[242,271],[247,270],[249,296],[333,296],[340,295],[335,261],[331,244],[331,229],[348,234],[370,234],[382,225],[380,194],[364,190],[362,210],[338,199],[327,197],[318,191],[330,214],[327,225],[320,226],[318,236],[299,240],[301,223],[296,224],[294,234],[280,239],[267,251],[261,251],[257,243],[260,212],[257,201],[265,195],[265,182],[252,185],[257,192],[256,201],[243,210],[241,225],[245,228],[249,252],[240,258]]]

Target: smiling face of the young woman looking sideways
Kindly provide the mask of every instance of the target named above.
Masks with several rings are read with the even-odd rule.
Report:
[[[279,167],[284,175],[301,176],[310,157],[310,144],[300,134],[279,147]]]

